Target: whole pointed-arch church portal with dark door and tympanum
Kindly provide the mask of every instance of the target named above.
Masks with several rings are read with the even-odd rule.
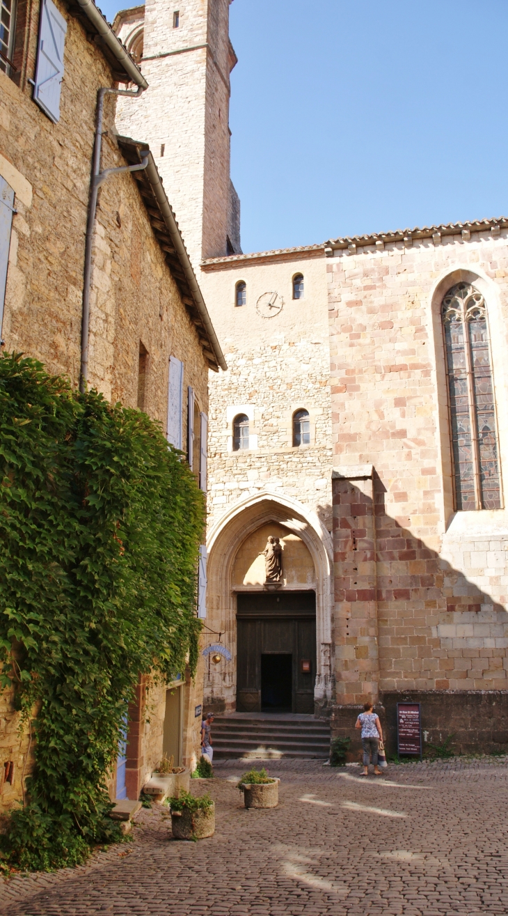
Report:
[[[265,582],[269,536],[282,547],[279,583]],[[244,500],[211,530],[207,626],[233,658],[205,672],[207,707],[313,713],[330,699],[331,569],[329,532],[281,494]]]

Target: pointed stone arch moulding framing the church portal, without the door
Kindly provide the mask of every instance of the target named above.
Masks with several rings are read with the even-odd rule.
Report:
[[[256,529],[270,522],[284,525],[303,540],[316,573],[317,677],[315,699],[331,699],[333,683],[332,598],[333,546],[330,532],[317,514],[297,499],[276,490],[263,489],[246,496],[222,515],[212,527],[208,542],[207,626],[224,633],[224,641],[236,655],[236,594],[232,591],[232,567],[238,550]],[[209,671],[205,702],[236,703],[236,672]]]

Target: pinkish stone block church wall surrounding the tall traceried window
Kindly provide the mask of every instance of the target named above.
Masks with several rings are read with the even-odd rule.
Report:
[[[508,518],[504,508],[454,512],[440,326],[445,292],[474,283],[489,316],[503,474],[506,233],[341,249],[327,270],[333,462],[345,482],[335,521],[339,703],[375,699],[362,671],[377,671],[383,693],[506,690]],[[348,500],[365,466],[361,517]],[[351,562],[358,551],[362,567]],[[349,575],[355,566],[362,579]]]

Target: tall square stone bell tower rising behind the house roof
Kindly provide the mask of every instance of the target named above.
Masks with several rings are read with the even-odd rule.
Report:
[[[241,251],[230,179],[231,2],[147,0],[113,22],[148,82],[140,98],[119,98],[116,127],[149,143],[197,274],[202,258]]]

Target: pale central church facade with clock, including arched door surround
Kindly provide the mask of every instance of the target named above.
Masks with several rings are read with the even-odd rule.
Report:
[[[292,298],[297,273],[304,276],[301,300]],[[244,306],[234,304],[239,281],[246,284]],[[217,669],[209,665],[205,702],[218,711],[235,707],[236,594],[263,590],[264,582],[255,561],[242,581],[239,570],[253,544],[263,550],[261,540],[281,532],[291,532],[291,544],[302,551],[301,558],[285,552],[283,587],[316,590],[317,689],[330,696],[331,417],[324,259],[295,251],[209,262],[201,285],[228,364],[226,373],[210,379],[207,625],[222,631],[232,651],[231,662]],[[276,291],[283,303],[273,318],[258,311],[267,291]],[[310,421],[310,442],[299,447],[292,438],[297,409],[307,409]],[[238,414],[250,420],[250,448],[235,452]]]

